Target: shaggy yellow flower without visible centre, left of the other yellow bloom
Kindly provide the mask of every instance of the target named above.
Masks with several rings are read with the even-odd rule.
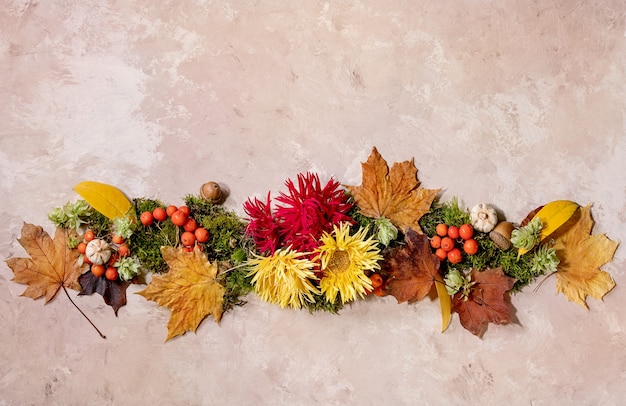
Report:
[[[315,262],[303,258],[306,255],[287,248],[278,249],[269,257],[250,260],[252,284],[259,297],[280,307],[295,309],[301,308],[305,300],[314,302],[313,295],[319,294],[311,282],[317,279],[313,272]]]

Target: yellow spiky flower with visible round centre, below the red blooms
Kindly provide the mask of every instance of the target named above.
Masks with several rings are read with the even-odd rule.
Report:
[[[378,261],[383,257],[373,237],[365,239],[367,228],[361,228],[350,235],[350,224],[341,223],[335,226],[333,233],[324,233],[319,252],[324,277],[320,280],[320,290],[330,302],[337,295],[341,302],[356,300],[363,297],[367,290],[372,289],[370,278],[365,275],[367,270],[380,268]]]

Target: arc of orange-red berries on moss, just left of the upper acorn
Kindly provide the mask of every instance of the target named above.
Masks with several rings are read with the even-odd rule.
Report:
[[[193,251],[193,247],[198,243],[205,243],[209,240],[209,231],[204,227],[198,227],[198,223],[190,217],[189,207],[173,205],[167,208],[157,207],[152,212],[144,211],[139,216],[141,224],[148,227],[154,220],[165,221],[169,217],[172,224],[182,227],[180,243],[186,251]]]

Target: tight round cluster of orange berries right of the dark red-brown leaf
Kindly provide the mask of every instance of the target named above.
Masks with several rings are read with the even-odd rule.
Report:
[[[467,255],[474,255],[478,252],[478,242],[472,238],[474,228],[470,224],[457,227],[440,223],[435,231],[437,235],[430,239],[430,246],[441,261],[447,259],[452,264],[458,264],[463,260],[463,253],[457,247],[457,243]]]

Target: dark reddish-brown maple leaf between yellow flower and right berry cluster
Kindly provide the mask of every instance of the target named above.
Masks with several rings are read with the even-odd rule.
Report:
[[[432,253],[426,235],[408,230],[405,245],[385,254],[381,272],[389,275],[386,293],[398,303],[413,303],[426,297],[440,279],[439,258]]]

